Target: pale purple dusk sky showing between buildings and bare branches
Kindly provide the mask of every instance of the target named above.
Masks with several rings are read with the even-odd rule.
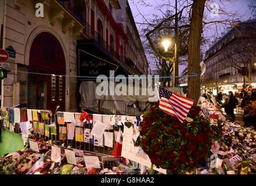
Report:
[[[165,0],[161,0],[161,1],[155,1],[155,0],[144,0],[145,3],[147,3],[149,6],[145,6],[142,3],[142,0],[128,0],[129,5],[131,7],[132,10],[132,14],[134,15],[134,20],[135,22],[138,23],[143,23],[145,22],[145,19],[152,19],[153,18],[153,14],[155,15],[162,15],[162,13],[159,10],[155,10],[154,7],[158,5],[161,5],[163,3],[166,3],[168,1]],[[171,5],[175,6],[175,0],[170,0]],[[178,1],[179,2],[179,1]],[[216,0],[215,2],[219,2],[219,0]],[[224,5],[223,4],[219,4],[220,8],[225,8],[225,10],[229,11],[229,12],[235,12],[237,11],[237,13],[239,14],[239,19],[241,21],[244,20],[248,20],[250,17],[252,17],[251,15],[251,10],[249,10],[248,5],[250,5],[251,3],[256,4],[256,0],[230,0],[229,2],[225,2]],[[178,3],[179,4],[179,3]],[[179,5],[178,5],[179,8]],[[166,9],[163,10],[163,12],[165,12]],[[143,18],[142,15],[140,15],[140,13],[145,17]],[[211,17],[209,16],[209,11],[205,9],[205,15],[206,17],[209,17],[210,20],[216,20],[216,17]],[[220,17],[218,17],[220,18]],[[220,18],[221,19],[221,18]],[[142,28],[142,24],[137,24],[137,28],[138,31],[141,30]],[[225,28],[224,25],[219,26],[218,28],[218,33],[215,30],[212,31],[208,31],[207,33],[205,33],[205,35],[207,35],[208,37],[211,37],[212,40],[214,40],[215,37],[220,37],[220,33],[221,32],[225,32]],[[214,37],[213,34],[215,34]],[[143,39],[142,39],[143,40]],[[209,46],[206,47],[206,49],[209,48]],[[149,59],[148,59],[149,60]],[[179,67],[179,74],[181,74],[181,72],[184,70],[185,66],[180,66]]]

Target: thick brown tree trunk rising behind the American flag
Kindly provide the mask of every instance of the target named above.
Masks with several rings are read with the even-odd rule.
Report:
[[[202,34],[202,18],[204,16],[205,0],[197,0],[192,5],[190,35],[188,36],[188,74],[200,74],[200,41]],[[200,77],[188,77],[188,98],[194,99],[197,105],[201,84]]]

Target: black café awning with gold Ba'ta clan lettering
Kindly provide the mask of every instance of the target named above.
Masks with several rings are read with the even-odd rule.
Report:
[[[97,76],[107,77],[124,75],[128,76],[127,67],[118,63],[114,55],[106,51],[95,40],[79,40],[77,47],[78,54],[78,76],[79,80],[96,80]],[[110,70],[114,74],[110,74]]]

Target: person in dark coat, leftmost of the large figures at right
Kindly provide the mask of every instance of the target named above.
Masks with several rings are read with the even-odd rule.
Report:
[[[232,121],[234,122],[235,116],[234,116],[234,109],[236,108],[236,105],[238,104],[237,99],[234,97],[233,92],[229,91],[229,98],[226,99],[225,103],[222,105],[222,107],[225,108],[225,112],[227,116],[232,117]]]

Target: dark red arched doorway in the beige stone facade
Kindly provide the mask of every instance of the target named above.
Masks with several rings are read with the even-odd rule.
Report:
[[[30,49],[27,108],[65,111],[65,77],[47,74],[66,74],[65,56],[57,38],[40,33]]]

